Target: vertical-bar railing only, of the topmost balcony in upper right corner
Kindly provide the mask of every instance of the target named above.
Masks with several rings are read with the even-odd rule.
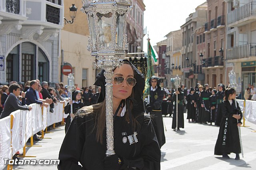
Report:
[[[228,12],[228,24],[232,24],[250,16],[256,16],[256,2],[250,2],[240,8]]]

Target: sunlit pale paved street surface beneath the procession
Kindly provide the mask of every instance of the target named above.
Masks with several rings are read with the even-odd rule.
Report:
[[[186,114],[184,114],[186,118]],[[250,127],[242,127],[242,142],[244,158],[234,160],[235,154],[230,159],[222,159],[214,155],[214,146],[218,136],[218,127],[188,123],[185,120],[185,128],[181,131],[172,131],[172,118],[164,117],[167,131],[166,144],[162,147],[161,170],[239,170],[256,169],[256,125],[246,122]],[[64,138],[64,126],[51,130],[54,133],[45,135],[47,138],[36,145],[42,147],[27,148],[28,156],[36,156],[36,159],[58,159],[60,145]],[[26,158],[29,159],[29,158]],[[33,158],[32,158],[33,159]],[[14,166],[14,169],[24,170],[55,170],[55,165],[44,166]],[[5,168],[6,170],[6,168]]]

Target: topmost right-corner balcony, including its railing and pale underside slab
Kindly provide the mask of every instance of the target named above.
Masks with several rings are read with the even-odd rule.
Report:
[[[250,2],[228,12],[228,26],[239,27],[256,21],[256,2]]]

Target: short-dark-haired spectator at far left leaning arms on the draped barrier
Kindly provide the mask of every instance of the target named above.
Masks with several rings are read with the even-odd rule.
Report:
[[[20,86],[18,84],[12,84],[9,87],[10,95],[6,99],[4,110],[2,111],[0,119],[9,116],[12,112],[16,110],[27,110],[31,111],[32,107],[21,105],[21,102],[18,101],[17,97],[20,95]],[[22,93],[22,99],[25,101],[25,93]],[[25,103],[22,103],[25,104]]]

